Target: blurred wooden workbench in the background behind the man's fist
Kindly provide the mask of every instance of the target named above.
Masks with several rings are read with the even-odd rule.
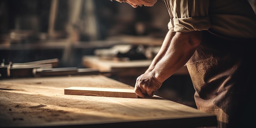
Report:
[[[102,59],[99,56],[83,56],[82,58],[84,67],[93,68],[99,72],[110,72],[108,76],[131,86],[134,86],[137,77],[148,69],[151,62],[152,60],[115,61]],[[189,75],[186,65],[174,75]]]

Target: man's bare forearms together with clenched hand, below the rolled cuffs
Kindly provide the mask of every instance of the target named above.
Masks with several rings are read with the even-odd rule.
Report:
[[[135,93],[139,97],[152,97],[168,77],[186,64],[202,41],[201,31],[176,32],[173,35],[173,32],[168,32],[150,68],[136,79]]]

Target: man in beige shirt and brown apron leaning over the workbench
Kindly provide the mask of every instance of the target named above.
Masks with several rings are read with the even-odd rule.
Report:
[[[117,0],[132,7],[157,0]],[[152,97],[186,64],[199,110],[217,116],[218,128],[255,128],[256,15],[247,0],[165,0],[171,20],[161,49],[135,83]],[[185,88],[184,88],[185,89]],[[255,119],[255,118],[254,118]]]

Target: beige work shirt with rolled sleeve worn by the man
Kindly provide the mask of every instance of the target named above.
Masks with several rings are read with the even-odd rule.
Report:
[[[208,30],[235,38],[256,38],[256,15],[247,0],[165,0],[171,16],[168,29]]]

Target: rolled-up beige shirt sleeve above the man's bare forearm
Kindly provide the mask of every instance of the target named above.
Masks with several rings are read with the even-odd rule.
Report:
[[[168,29],[177,32],[208,30],[209,0],[170,0],[171,19]]]

